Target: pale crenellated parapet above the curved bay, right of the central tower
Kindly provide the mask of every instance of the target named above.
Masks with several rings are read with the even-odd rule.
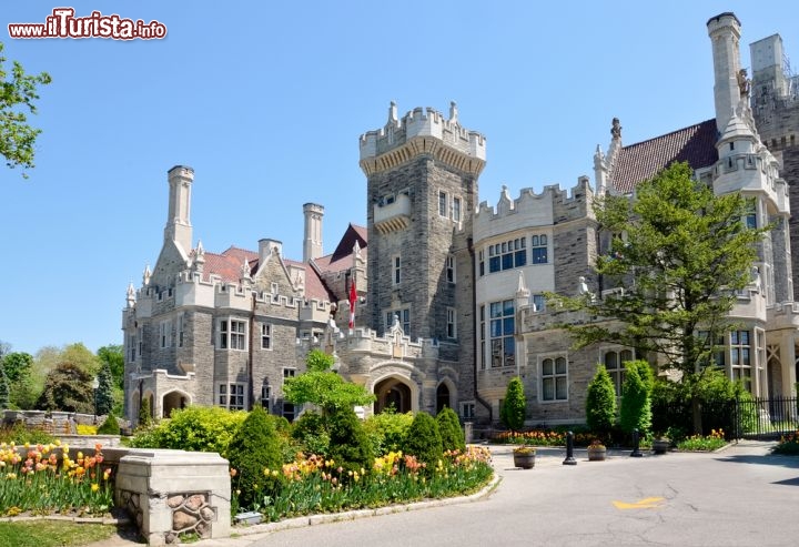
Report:
[[[594,191],[587,176],[580,176],[570,189],[559,184],[544,186],[540,193],[532,188],[522,189],[516,200],[503,186],[496,206],[481,202],[475,213],[475,241],[506,232],[513,226],[548,226],[593,215]]]

